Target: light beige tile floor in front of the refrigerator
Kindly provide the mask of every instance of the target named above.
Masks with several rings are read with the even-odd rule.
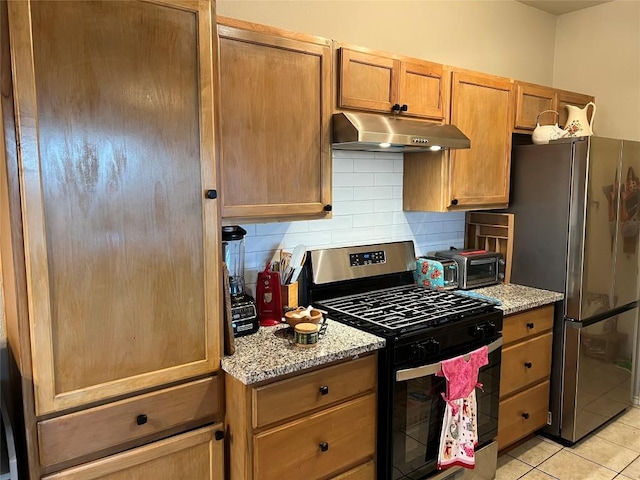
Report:
[[[496,480],[640,480],[640,408],[572,447],[536,436],[498,458]]]

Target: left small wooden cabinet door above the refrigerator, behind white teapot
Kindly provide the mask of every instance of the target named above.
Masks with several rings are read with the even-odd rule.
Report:
[[[540,112],[555,110],[556,91],[553,88],[516,82],[516,108],[514,129],[530,133],[536,128],[536,119]],[[553,125],[558,117],[548,112],[540,115],[540,125]]]

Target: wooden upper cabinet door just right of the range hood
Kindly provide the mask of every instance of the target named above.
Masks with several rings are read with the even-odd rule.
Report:
[[[454,71],[451,123],[471,139],[468,150],[451,150],[449,198],[453,208],[505,206],[509,201],[511,80]]]

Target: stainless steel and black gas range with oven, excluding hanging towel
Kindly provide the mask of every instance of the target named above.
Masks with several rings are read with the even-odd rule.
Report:
[[[415,265],[411,241],[311,250],[302,302],[386,340],[378,355],[380,480],[454,474],[437,470],[446,385],[435,374],[441,361],[488,346],[489,364],[479,375],[483,388],[477,392],[479,443],[472,478],[493,478],[502,311],[490,301],[414,284]]]

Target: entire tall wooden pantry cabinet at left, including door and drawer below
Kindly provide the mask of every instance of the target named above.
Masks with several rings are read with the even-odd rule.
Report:
[[[214,7],[2,8],[0,240],[30,476],[141,478],[173,458],[221,478]]]

